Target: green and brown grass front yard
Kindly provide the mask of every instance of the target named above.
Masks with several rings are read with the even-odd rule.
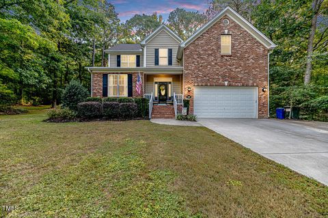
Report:
[[[45,118],[0,116],[0,217],[328,217],[328,187],[207,128]]]

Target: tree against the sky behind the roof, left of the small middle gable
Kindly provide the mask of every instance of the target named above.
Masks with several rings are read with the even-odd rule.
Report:
[[[152,15],[135,14],[133,18],[129,19],[125,23],[125,27],[130,33],[131,40],[135,43],[140,42],[150,33],[152,33],[157,27],[163,23],[163,17],[157,16],[156,12]]]

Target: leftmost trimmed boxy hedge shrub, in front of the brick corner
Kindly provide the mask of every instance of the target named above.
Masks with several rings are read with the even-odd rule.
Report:
[[[85,119],[99,118],[102,114],[102,105],[95,101],[79,103],[77,104],[77,114]]]

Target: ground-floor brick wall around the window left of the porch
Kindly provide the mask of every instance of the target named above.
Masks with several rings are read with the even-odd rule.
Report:
[[[143,96],[143,87],[141,87],[141,93],[137,94],[135,90],[135,84],[137,83],[138,72],[92,72],[92,96],[102,97],[102,74],[132,74],[133,82],[133,97]],[[143,72],[140,72],[141,78],[143,78]],[[144,85],[144,81],[143,81]]]

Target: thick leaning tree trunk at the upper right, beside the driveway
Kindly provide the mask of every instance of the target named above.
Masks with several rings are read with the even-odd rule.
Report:
[[[314,42],[314,36],[316,33],[316,21],[318,20],[318,13],[320,10],[321,3],[323,3],[323,0],[313,0],[313,2],[312,2],[313,16],[312,16],[312,20],[311,20],[310,36],[309,36],[309,40],[308,40],[308,55],[306,56],[306,69],[305,69],[305,75],[304,75],[304,85],[308,85],[311,81],[313,42]]]

